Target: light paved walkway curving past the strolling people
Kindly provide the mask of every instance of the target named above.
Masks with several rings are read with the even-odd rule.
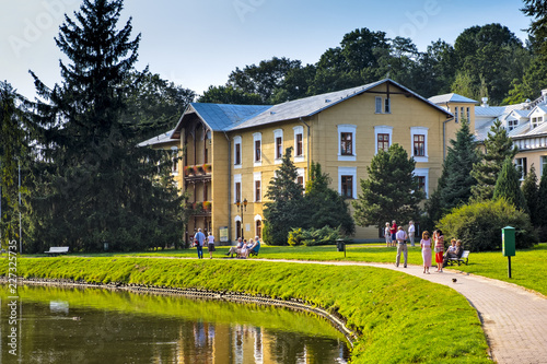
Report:
[[[395,256],[395,255],[394,255]],[[263,259],[260,259],[263,260]],[[449,285],[464,295],[478,312],[494,362],[547,363],[547,297],[515,284],[444,269],[423,274],[420,266],[396,268],[386,263],[276,260],[292,263],[368,266],[398,270]],[[456,279],[454,283],[452,280]]]

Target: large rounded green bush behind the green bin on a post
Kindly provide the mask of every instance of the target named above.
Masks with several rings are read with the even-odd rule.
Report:
[[[529,248],[537,243],[528,214],[504,199],[466,204],[452,210],[438,224],[445,242],[462,239],[464,249],[486,251],[501,249],[501,228],[515,228],[516,248]]]

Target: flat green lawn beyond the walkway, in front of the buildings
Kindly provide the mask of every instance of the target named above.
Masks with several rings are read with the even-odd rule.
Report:
[[[345,260],[345,261],[368,261],[368,262],[394,262],[395,248],[387,248],[379,244],[359,244],[347,245],[346,258],[344,253],[336,250],[336,246],[298,246],[298,247],[260,247],[258,258],[252,259],[295,259],[295,260]],[[229,247],[217,247],[213,258],[225,258],[224,254]],[[205,249],[205,258],[208,253]],[[128,254],[108,254],[108,256],[127,256]],[[96,256],[105,256],[96,255]],[[195,258],[196,249],[187,250],[158,250],[131,254],[137,257],[178,257]],[[408,247],[408,262],[410,265],[422,265],[421,251],[419,246]],[[468,266],[455,266],[452,269],[464,272],[479,274],[492,279],[522,285],[526,289],[537,291],[547,295],[547,280],[544,279],[544,272],[547,267],[547,243],[536,245],[531,249],[517,250],[516,256],[511,258],[512,278],[508,275],[508,258],[503,257],[501,251],[472,253]]]

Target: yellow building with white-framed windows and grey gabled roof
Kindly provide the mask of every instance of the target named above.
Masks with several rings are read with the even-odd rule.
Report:
[[[261,235],[264,196],[287,148],[300,183],[313,161],[333,189],[356,199],[373,156],[398,143],[416,160],[429,196],[456,129],[449,109],[386,79],[274,106],[193,103],[174,130],[147,143],[184,155],[176,178],[196,209],[185,238],[201,227],[231,242]],[[354,238],[379,236],[373,226],[358,227]]]

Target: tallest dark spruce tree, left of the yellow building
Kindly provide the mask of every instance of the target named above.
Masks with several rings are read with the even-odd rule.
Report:
[[[60,62],[62,83],[50,90],[32,73],[48,101],[37,104],[47,163],[34,200],[34,237],[46,246],[131,250],[182,237],[171,157],[137,148],[142,130],[124,119],[140,35],[130,38],[131,19],[117,30],[121,9],[121,0],[84,0],[56,38],[70,62]]]

